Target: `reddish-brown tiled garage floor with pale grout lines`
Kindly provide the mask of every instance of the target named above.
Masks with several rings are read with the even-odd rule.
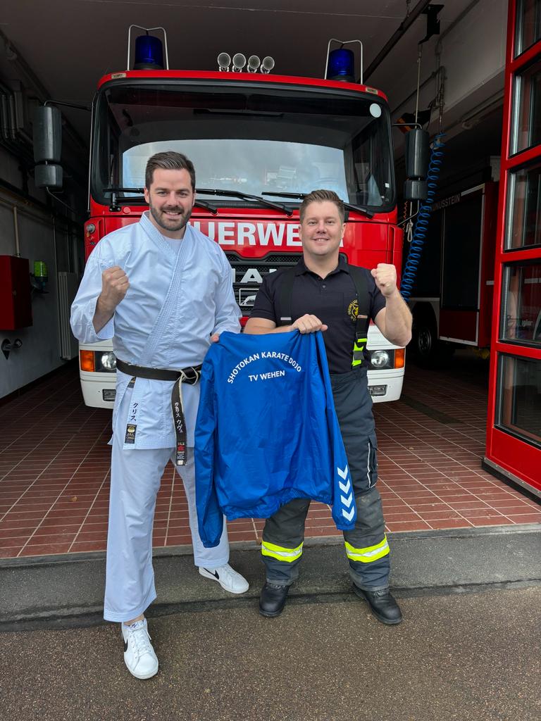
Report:
[[[387,530],[541,522],[541,506],[480,468],[485,365],[458,353],[451,371],[408,366],[400,402],[374,406],[379,490]],[[105,549],[110,412],[82,404],[70,365],[0,406],[0,558]],[[263,521],[229,523],[231,541],[257,541]],[[334,536],[313,503],[307,536]],[[154,545],[190,543],[182,483],[167,466]]]

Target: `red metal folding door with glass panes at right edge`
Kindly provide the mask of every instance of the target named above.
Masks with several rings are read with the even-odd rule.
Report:
[[[541,496],[541,1],[508,27],[483,465]]]

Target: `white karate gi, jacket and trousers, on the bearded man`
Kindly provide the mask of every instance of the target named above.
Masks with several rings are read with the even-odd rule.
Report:
[[[102,290],[102,272],[120,266],[130,283],[113,318],[99,333],[92,319]],[[141,220],[103,238],[90,255],[71,307],[71,328],[80,342],[113,339],[115,355],[147,368],[179,370],[203,362],[211,335],[239,332],[232,271],[221,248],[186,226],[184,238],[165,238]],[[152,525],[159,481],[175,456],[171,412],[172,381],[137,378],[117,371],[104,617],[128,621],[156,598],[152,569]],[[129,386],[128,386],[129,384]],[[214,568],[229,560],[224,533],[218,547],[206,549],[195,511],[193,433],[199,385],[182,384],[188,433],[188,464],[178,468],[188,498],[194,561]],[[133,438],[126,425],[136,426]]]

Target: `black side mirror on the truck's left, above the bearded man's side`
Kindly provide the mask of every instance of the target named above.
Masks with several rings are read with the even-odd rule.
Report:
[[[37,187],[62,187],[62,115],[58,107],[40,105],[34,111],[33,144]]]

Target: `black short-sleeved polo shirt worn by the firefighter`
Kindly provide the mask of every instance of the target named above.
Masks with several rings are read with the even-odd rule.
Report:
[[[250,313],[251,318],[265,318],[280,325],[280,318],[289,316],[289,309],[281,308],[279,288],[286,269],[276,270],[263,278],[258,295]],[[366,273],[366,288],[369,292],[370,317],[372,320],[385,307],[385,298],[378,290],[370,271]],[[295,267],[295,280],[291,295],[291,313],[294,322],[306,313],[317,316],[328,329],[323,333],[327,361],[331,373],[348,373],[351,371],[353,358],[353,342],[355,342],[356,316],[355,301],[357,293],[355,283],[348,272],[348,264],[340,255],[338,267],[327,278],[320,278],[317,273],[308,270],[304,260],[299,260]],[[365,350],[365,361],[368,355]]]

